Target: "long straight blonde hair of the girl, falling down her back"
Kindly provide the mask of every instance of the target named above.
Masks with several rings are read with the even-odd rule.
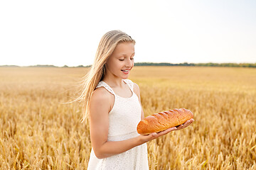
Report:
[[[82,93],[76,99],[76,101],[79,100],[84,102],[85,108],[82,112],[82,122],[85,121],[85,123],[87,123],[90,114],[89,104],[92,92],[95,90],[97,84],[105,77],[105,63],[110,55],[112,55],[115,47],[121,42],[132,42],[135,44],[135,40],[121,30],[111,30],[105,33],[100,40],[94,63],[82,82]]]

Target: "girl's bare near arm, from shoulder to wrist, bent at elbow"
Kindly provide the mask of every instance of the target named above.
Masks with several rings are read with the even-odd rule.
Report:
[[[107,141],[108,114],[112,103],[114,103],[114,96],[103,88],[96,89],[90,100],[90,137],[92,148],[98,159],[120,154],[144,143],[144,140],[139,137],[117,142]]]

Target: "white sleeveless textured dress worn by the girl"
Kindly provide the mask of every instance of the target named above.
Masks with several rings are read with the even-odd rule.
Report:
[[[132,96],[123,98],[114,94],[114,91],[104,81],[100,81],[96,88],[105,87],[114,95],[114,106],[109,113],[109,132],[108,141],[127,140],[132,137],[139,136],[137,125],[141,120],[142,107],[139,103],[138,96],[133,91],[134,83],[129,79],[123,79],[124,83],[129,86]],[[121,154],[112,157],[97,159],[93,148],[90,153],[88,170],[148,170],[148,157],[146,143],[127,150]]]

